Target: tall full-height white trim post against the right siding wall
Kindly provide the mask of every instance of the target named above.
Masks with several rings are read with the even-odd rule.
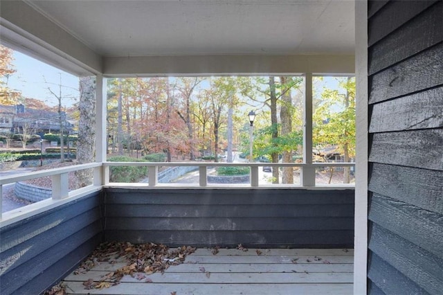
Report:
[[[368,1],[355,1],[356,160],[354,294],[366,294],[368,266]]]

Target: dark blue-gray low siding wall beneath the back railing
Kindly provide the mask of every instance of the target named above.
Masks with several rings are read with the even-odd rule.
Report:
[[[105,240],[353,247],[354,190],[107,189]]]

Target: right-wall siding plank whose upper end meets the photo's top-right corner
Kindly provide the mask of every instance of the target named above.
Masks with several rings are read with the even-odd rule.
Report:
[[[371,46],[368,51],[370,75],[442,42],[442,15],[443,2],[438,1],[431,9]],[[383,26],[381,23],[377,25]],[[370,23],[370,26],[374,25]]]

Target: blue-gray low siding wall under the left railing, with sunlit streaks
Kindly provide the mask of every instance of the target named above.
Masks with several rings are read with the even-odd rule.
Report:
[[[41,294],[102,242],[102,193],[0,231],[1,294]]]

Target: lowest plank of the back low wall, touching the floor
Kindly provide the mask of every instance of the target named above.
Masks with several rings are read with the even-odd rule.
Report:
[[[352,248],[354,231],[105,231],[105,240],[170,247]]]

